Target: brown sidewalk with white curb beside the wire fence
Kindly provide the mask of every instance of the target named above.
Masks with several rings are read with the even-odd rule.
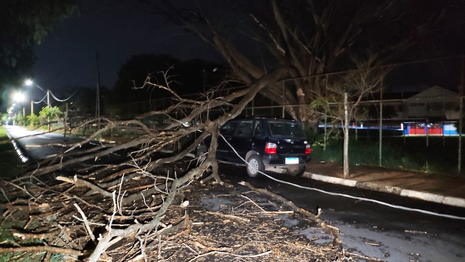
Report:
[[[465,207],[465,180],[458,177],[392,171],[378,166],[351,166],[350,172],[350,178],[342,179],[342,165],[310,162],[302,177]]]

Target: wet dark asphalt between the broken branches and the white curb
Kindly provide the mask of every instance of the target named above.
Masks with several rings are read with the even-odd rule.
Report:
[[[231,183],[246,180],[253,186],[278,193],[313,213],[321,208],[323,213],[320,217],[341,230],[339,237],[349,252],[378,258],[382,261],[465,261],[465,220],[449,219],[368,201],[333,196],[287,185],[266,177],[253,179],[246,175],[245,167],[220,165],[219,172],[225,174],[226,179],[231,180]],[[272,174],[272,176],[328,192],[344,193],[403,207],[465,217],[465,208],[311,179],[293,178],[282,174]]]

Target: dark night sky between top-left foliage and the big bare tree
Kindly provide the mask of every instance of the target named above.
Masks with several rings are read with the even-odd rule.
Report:
[[[100,53],[100,84],[112,87],[131,55],[168,54],[181,60],[220,61],[216,51],[159,15],[131,1],[80,0],[80,16],[53,26],[35,48],[34,80],[50,90],[95,87],[95,52]]]

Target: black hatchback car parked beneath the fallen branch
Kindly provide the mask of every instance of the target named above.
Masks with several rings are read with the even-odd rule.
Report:
[[[227,121],[219,129],[225,139],[218,138],[216,159],[234,165],[246,165],[249,176],[256,177],[259,171],[278,171],[284,168],[286,173],[300,176],[310,161],[310,144],[305,132],[293,120],[276,118],[242,118]],[[197,155],[206,152],[204,141],[199,145]],[[238,156],[239,154],[239,156]]]

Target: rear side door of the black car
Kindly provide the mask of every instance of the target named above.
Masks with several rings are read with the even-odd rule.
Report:
[[[253,128],[255,120],[240,120],[233,138],[231,138],[231,145],[242,158],[246,157],[246,153],[250,150],[252,142]],[[233,149],[229,149],[229,159],[232,162],[243,163]]]

